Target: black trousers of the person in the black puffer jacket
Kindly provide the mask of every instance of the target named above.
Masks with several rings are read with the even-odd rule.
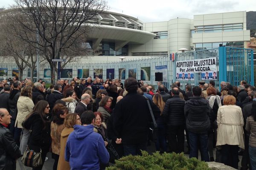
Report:
[[[167,139],[169,151],[175,153],[184,152],[184,125],[172,126],[167,125]]]

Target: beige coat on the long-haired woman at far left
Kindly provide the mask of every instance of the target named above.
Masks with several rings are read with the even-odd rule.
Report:
[[[33,111],[34,103],[32,99],[26,96],[20,96],[17,101],[17,118],[15,121],[15,127],[23,128],[22,122],[26,119],[26,116]]]

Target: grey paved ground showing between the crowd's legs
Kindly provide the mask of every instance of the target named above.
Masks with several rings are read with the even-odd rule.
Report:
[[[151,142],[151,145],[148,146],[148,152],[149,152],[149,153],[152,153],[152,152],[154,152],[154,150],[155,150],[155,146],[154,146],[154,144]],[[187,150],[187,145],[186,145],[186,140],[185,140],[185,151],[186,151],[186,150]],[[200,152],[198,152],[198,153],[199,153],[198,159],[201,159]],[[215,152],[213,152],[213,153],[215,153]],[[189,155],[187,155],[187,156],[189,156]],[[53,167],[53,164],[54,164],[54,159],[52,159],[51,153],[47,153],[47,157],[48,157],[48,160],[44,162],[43,170],[52,170],[52,167]],[[215,157],[215,154],[214,154],[214,157]],[[239,156],[239,160],[240,160],[240,161],[239,161],[239,169],[240,169],[240,167],[241,167],[241,159],[242,159],[242,157]],[[20,159],[18,159],[16,170],[32,170],[32,168],[25,167],[25,166],[21,163]]]

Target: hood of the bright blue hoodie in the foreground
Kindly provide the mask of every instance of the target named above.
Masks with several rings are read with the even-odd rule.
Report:
[[[93,133],[93,125],[87,125],[87,126],[75,125],[73,133],[76,139],[84,139],[88,135]]]

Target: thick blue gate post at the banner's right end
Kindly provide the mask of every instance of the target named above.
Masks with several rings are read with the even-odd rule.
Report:
[[[219,83],[227,82],[227,55],[226,47],[219,47]],[[219,86],[221,87],[221,86]]]

